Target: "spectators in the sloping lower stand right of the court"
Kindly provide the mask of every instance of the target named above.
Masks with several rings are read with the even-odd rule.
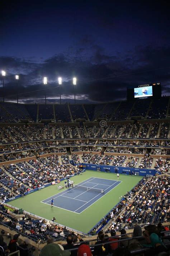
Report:
[[[108,230],[169,221],[168,193],[168,177],[143,178],[110,212],[113,222]]]

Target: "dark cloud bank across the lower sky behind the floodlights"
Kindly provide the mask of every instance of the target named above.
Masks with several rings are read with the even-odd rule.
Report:
[[[85,36],[76,47],[72,46],[71,51],[42,59],[39,63],[34,61],[34,57],[0,57],[0,67],[7,71],[5,98],[16,99],[16,73],[20,75],[19,98],[22,102],[42,102],[45,88],[49,102],[58,102],[58,76],[63,78],[61,93],[65,102],[74,100],[74,76],[77,77],[76,95],[79,102],[125,99],[127,86],[151,82],[161,82],[162,91],[168,95],[169,55],[169,46],[138,46],[125,54],[108,55],[93,39]],[[44,76],[48,77],[47,85],[43,85]]]

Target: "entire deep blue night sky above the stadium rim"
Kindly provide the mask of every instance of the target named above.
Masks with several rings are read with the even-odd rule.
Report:
[[[126,99],[126,87],[161,82],[170,95],[168,1],[5,1],[0,3],[0,70],[5,100],[74,102]],[[43,85],[43,77],[48,84]],[[0,77],[2,96],[2,77]],[[0,100],[3,100],[2,98]]]

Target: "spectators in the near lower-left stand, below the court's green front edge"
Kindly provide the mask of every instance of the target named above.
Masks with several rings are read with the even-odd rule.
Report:
[[[10,229],[20,232],[24,235],[27,245],[30,240],[33,239],[36,242],[49,243],[49,240],[62,241],[72,232],[66,229],[66,227],[61,227],[55,223],[52,223],[53,220],[48,221],[45,219],[35,219],[33,216],[28,214],[23,215],[18,219],[14,214],[10,214],[8,207],[4,207],[3,204],[0,205],[0,221],[2,224],[8,226]],[[16,212],[19,214],[19,212]],[[55,219],[55,217],[53,218]],[[19,238],[19,234],[14,235],[14,240],[16,241]],[[9,246],[10,252],[14,252],[12,247]],[[15,247],[16,249],[16,247]],[[26,251],[25,251],[26,253]],[[22,255],[32,255],[32,254],[22,254]]]

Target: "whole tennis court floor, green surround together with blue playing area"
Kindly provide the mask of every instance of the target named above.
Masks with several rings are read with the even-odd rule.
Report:
[[[48,220],[51,220],[53,217],[55,217],[57,223],[63,226],[67,226],[72,229],[88,233],[89,230],[93,228],[93,226],[96,225],[121,200],[122,196],[126,194],[127,191],[130,191],[142,179],[142,177],[137,175],[131,176],[122,174],[119,176],[118,180],[117,175],[113,173],[85,171],[82,175],[76,175],[71,178],[71,180],[74,181],[74,184],[82,186],[87,186],[86,182],[88,182],[88,184],[91,184],[92,181],[90,181],[90,179],[93,179],[93,183],[96,183],[97,181],[97,184],[108,185],[108,187],[112,185],[112,187],[108,188],[108,190],[107,187],[105,187],[106,190],[104,190],[104,194],[100,194],[97,192],[92,193],[92,191],[90,192],[90,194],[83,193],[85,191],[81,189],[76,189],[76,193],[74,192],[74,190],[70,191],[69,194],[67,193],[67,197],[75,198],[76,196],[78,196],[76,197],[76,199],[78,198],[86,202],[89,202],[92,197],[94,198],[95,196],[97,196],[93,199],[94,203],[92,202],[92,200],[88,203],[89,207],[85,205],[86,202],[82,202],[83,205],[85,205],[84,207],[86,207],[86,209],[84,211],[82,209],[79,209],[81,210],[81,214],[77,214],[77,212],[75,211],[82,205],[80,205],[79,207],[77,207],[76,205],[77,208],[72,208],[70,211],[63,208],[63,206],[66,207],[66,205],[74,205],[75,201],[79,202],[78,200],[72,201],[71,198],[66,199],[68,201],[71,200],[72,203],[70,203],[70,201],[67,201],[66,203],[65,201],[65,205],[63,205],[62,203],[62,205],[57,207],[51,207],[51,201],[48,203],[42,203],[43,201],[47,202],[51,198],[61,195],[61,193],[63,194],[65,192],[68,192],[68,189],[65,188],[63,190],[58,190],[57,185],[49,186],[34,193],[30,193],[26,197],[17,198],[13,201],[10,201],[9,204],[18,208],[23,208],[27,212],[31,212],[32,214],[38,215],[41,218],[45,218]],[[106,183],[104,183],[105,181]],[[114,183],[115,181],[121,181],[121,183]],[[97,184],[88,185],[87,187],[93,187]],[[64,186],[64,181],[61,181],[60,185]],[[103,186],[97,186],[97,188],[101,190]],[[80,196],[81,193],[83,193],[81,196],[84,195],[83,198]],[[65,194],[63,194],[63,196],[65,196]],[[63,200],[65,198],[63,196],[59,198],[62,198]],[[58,197],[56,198],[56,200],[59,201]]]

